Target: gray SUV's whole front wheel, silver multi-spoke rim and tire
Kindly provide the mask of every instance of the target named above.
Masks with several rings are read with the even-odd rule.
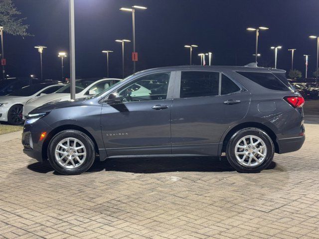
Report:
[[[51,166],[61,174],[74,175],[87,171],[95,159],[94,143],[78,130],[57,133],[48,146]]]

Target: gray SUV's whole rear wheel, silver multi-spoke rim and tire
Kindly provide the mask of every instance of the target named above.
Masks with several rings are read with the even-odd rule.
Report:
[[[238,172],[256,173],[267,168],[274,158],[274,143],[259,128],[243,128],[230,138],[226,156]]]

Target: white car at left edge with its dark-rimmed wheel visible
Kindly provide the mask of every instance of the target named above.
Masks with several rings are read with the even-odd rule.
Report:
[[[41,83],[22,87],[9,95],[0,96],[0,121],[10,124],[22,124],[22,107],[30,99],[36,99],[41,95],[51,94],[64,84]]]

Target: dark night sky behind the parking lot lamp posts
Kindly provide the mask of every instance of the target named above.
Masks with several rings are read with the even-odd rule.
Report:
[[[69,49],[68,0],[13,0],[27,17],[29,33],[22,37],[4,35],[4,54],[10,76],[40,75],[39,53],[33,47],[45,45],[43,78],[60,79],[58,51]],[[189,64],[185,44],[197,44],[193,64],[200,64],[201,52],[213,52],[213,65],[245,65],[254,61],[255,32],[247,27],[267,26],[260,31],[260,66],[274,65],[270,46],[282,45],[277,68],[289,70],[291,52],[295,67],[305,72],[303,55],[310,54],[309,75],[316,69],[316,40],[319,34],[318,0],[75,0],[76,77],[106,76],[110,54],[110,77],[120,77],[121,43],[132,40],[132,14],[120,7],[147,6],[136,10],[137,70]],[[132,43],[126,44],[126,75],[133,70]],[[69,75],[68,59],[65,72]],[[208,59],[206,58],[206,62]]]

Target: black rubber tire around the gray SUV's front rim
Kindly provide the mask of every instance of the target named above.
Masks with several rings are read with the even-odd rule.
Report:
[[[55,157],[55,149],[56,149],[58,143],[65,138],[75,138],[75,139],[81,141],[85,147],[86,157],[85,157],[83,163],[75,168],[63,167],[57,161],[57,159]],[[71,143],[70,143],[70,145],[71,145]],[[72,145],[70,147],[72,147]],[[63,130],[63,131],[57,133],[50,140],[47,154],[48,154],[48,159],[49,159],[49,163],[51,164],[51,166],[57,172],[59,172],[61,174],[65,174],[65,175],[76,175],[76,174],[81,174],[83,172],[86,172],[92,166],[92,164],[94,163],[94,160],[95,160],[95,149],[94,149],[94,143],[93,143],[92,139],[89,136],[87,136],[85,133],[78,131],[78,130],[73,130],[73,129]],[[63,159],[63,160],[67,161],[67,159]],[[65,163],[64,161],[62,161],[62,163]],[[77,162],[77,161],[74,161],[74,162]]]

